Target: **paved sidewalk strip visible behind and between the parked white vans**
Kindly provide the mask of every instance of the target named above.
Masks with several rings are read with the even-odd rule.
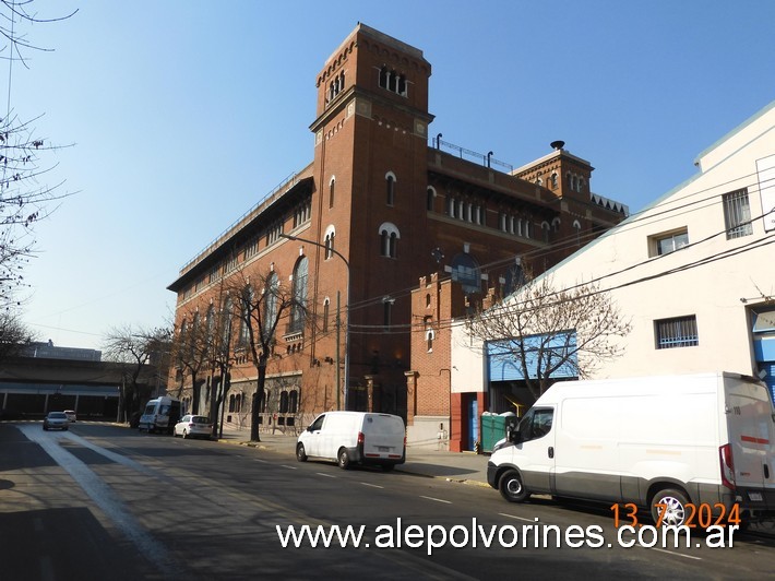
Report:
[[[261,450],[295,456],[296,436],[261,432],[260,442],[250,441],[250,428],[238,428],[234,425],[224,425],[224,437],[220,441],[252,446]],[[406,447],[406,462],[395,467],[398,472],[417,474],[432,478],[445,478],[478,486],[487,484],[487,454],[474,452],[448,452],[420,447]]]

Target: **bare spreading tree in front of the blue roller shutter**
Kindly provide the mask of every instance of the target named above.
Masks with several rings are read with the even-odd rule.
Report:
[[[598,285],[557,289],[550,276],[528,282],[466,324],[469,335],[490,344],[493,356],[520,368],[536,399],[559,374],[583,379],[601,363],[619,357],[623,349],[611,340],[631,330],[630,321]]]

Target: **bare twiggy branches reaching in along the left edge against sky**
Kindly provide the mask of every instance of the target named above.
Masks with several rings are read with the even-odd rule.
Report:
[[[27,67],[27,51],[47,50],[27,39],[25,25],[56,22],[72,16],[40,19],[33,0],[0,1],[0,59],[8,63],[9,87],[4,115],[0,112],[0,306],[13,303],[13,292],[24,284],[22,271],[34,256],[33,226],[46,217],[50,203],[69,195],[62,183],[40,185],[55,166],[41,155],[59,149],[35,133],[37,119],[23,121],[11,106],[14,63]]]

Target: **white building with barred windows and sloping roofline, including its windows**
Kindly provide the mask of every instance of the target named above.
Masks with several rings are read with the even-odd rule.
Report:
[[[594,378],[724,370],[775,390],[775,102],[695,165],[547,275],[556,287],[596,281],[631,317],[624,355]],[[453,392],[487,392],[498,379],[487,348],[472,349],[462,328],[454,336],[453,364],[466,371],[453,374]]]

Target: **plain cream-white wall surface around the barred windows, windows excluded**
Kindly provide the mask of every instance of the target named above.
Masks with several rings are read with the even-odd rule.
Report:
[[[631,317],[632,332],[622,341],[625,354],[601,366],[595,377],[754,372],[747,307],[763,304],[762,294],[775,295],[775,244],[749,247],[775,242],[775,232],[765,232],[760,218],[752,235],[727,240],[722,195],[748,188],[751,216],[762,215],[756,162],[760,168],[762,161],[772,166],[771,156],[775,103],[703,152],[698,164],[702,171],[692,180],[552,269],[556,286],[599,280]],[[647,171],[633,179],[647,179]],[[649,258],[649,237],[683,227],[689,247]],[[691,266],[724,253],[728,258]],[[684,270],[665,274],[680,268]],[[654,321],[689,315],[696,316],[700,345],[657,349]],[[466,369],[472,384],[474,369],[484,368],[481,354],[468,349],[453,347],[452,360]]]

